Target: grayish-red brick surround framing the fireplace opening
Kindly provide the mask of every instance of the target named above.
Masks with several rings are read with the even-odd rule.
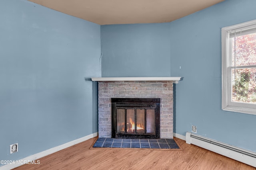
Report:
[[[160,98],[160,138],[173,138],[173,81],[98,82],[99,137],[111,137],[111,98]]]

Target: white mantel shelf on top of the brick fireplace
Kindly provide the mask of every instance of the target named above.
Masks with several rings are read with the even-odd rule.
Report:
[[[173,83],[178,84],[180,78],[181,77],[92,77],[92,81],[173,81]]]

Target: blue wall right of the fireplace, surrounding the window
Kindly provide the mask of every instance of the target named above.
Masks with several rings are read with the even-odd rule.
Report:
[[[221,109],[221,28],[256,19],[255,0],[226,0],[170,23],[176,85],[175,133],[197,134],[256,152],[256,115]],[[181,68],[180,68],[181,67]]]

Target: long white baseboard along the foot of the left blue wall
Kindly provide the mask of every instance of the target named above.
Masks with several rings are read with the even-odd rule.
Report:
[[[25,162],[25,163],[23,163],[23,164],[26,164],[26,161],[28,161],[28,160],[29,160],[29,161],[33,161],[33,160],[42,158],[42,157],[47,156],[47,155],[49,155],[49,154],[52,154],[52,153],[54,153],[54,152],[58,152],[59,150],[66,149],[66,148],[71,147],[71,146],[73,146],[73,145],[76,145],[76,144],[78,144],[78,143],[87,141],[88,139],[94,138],[94,137],[96,137],[96,136],[98,136],[98,132],[92,133],[92,134],[87,135],[87,136],[85,136],[85,137],[81,137],[81,138],[76,139],[76,140],[74,140],[74,141],[70,141],[70,142],[68,142],[68,143],[64,143],[64,144],[59,145],[59,146],[57,146],[57,147],[54,147],[54,148],[51,148],[51,149],[48,149],[48,150],[44,150],[44,151],[39,152],[39,153],[37,153],[37,154],[33,154],[33,155],[28,156],[28,157],[26,157],[26,158],[20,159],[20,160],[18,160],[17,162]],[[10,170],[10,169],[16,168],[16,167],[18,167],[18,166],[21,166],[21,165],[23,165],[23,164],[16,164],[16,162],[14,162],[14,164],[6,164],[6,165],[4,165],[4,166],[0,166],[0,170]]]

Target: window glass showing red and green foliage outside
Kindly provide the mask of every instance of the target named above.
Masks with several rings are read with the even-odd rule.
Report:
[[[232,38],[232,66],[232,101],[256,104],[256,33]]]

